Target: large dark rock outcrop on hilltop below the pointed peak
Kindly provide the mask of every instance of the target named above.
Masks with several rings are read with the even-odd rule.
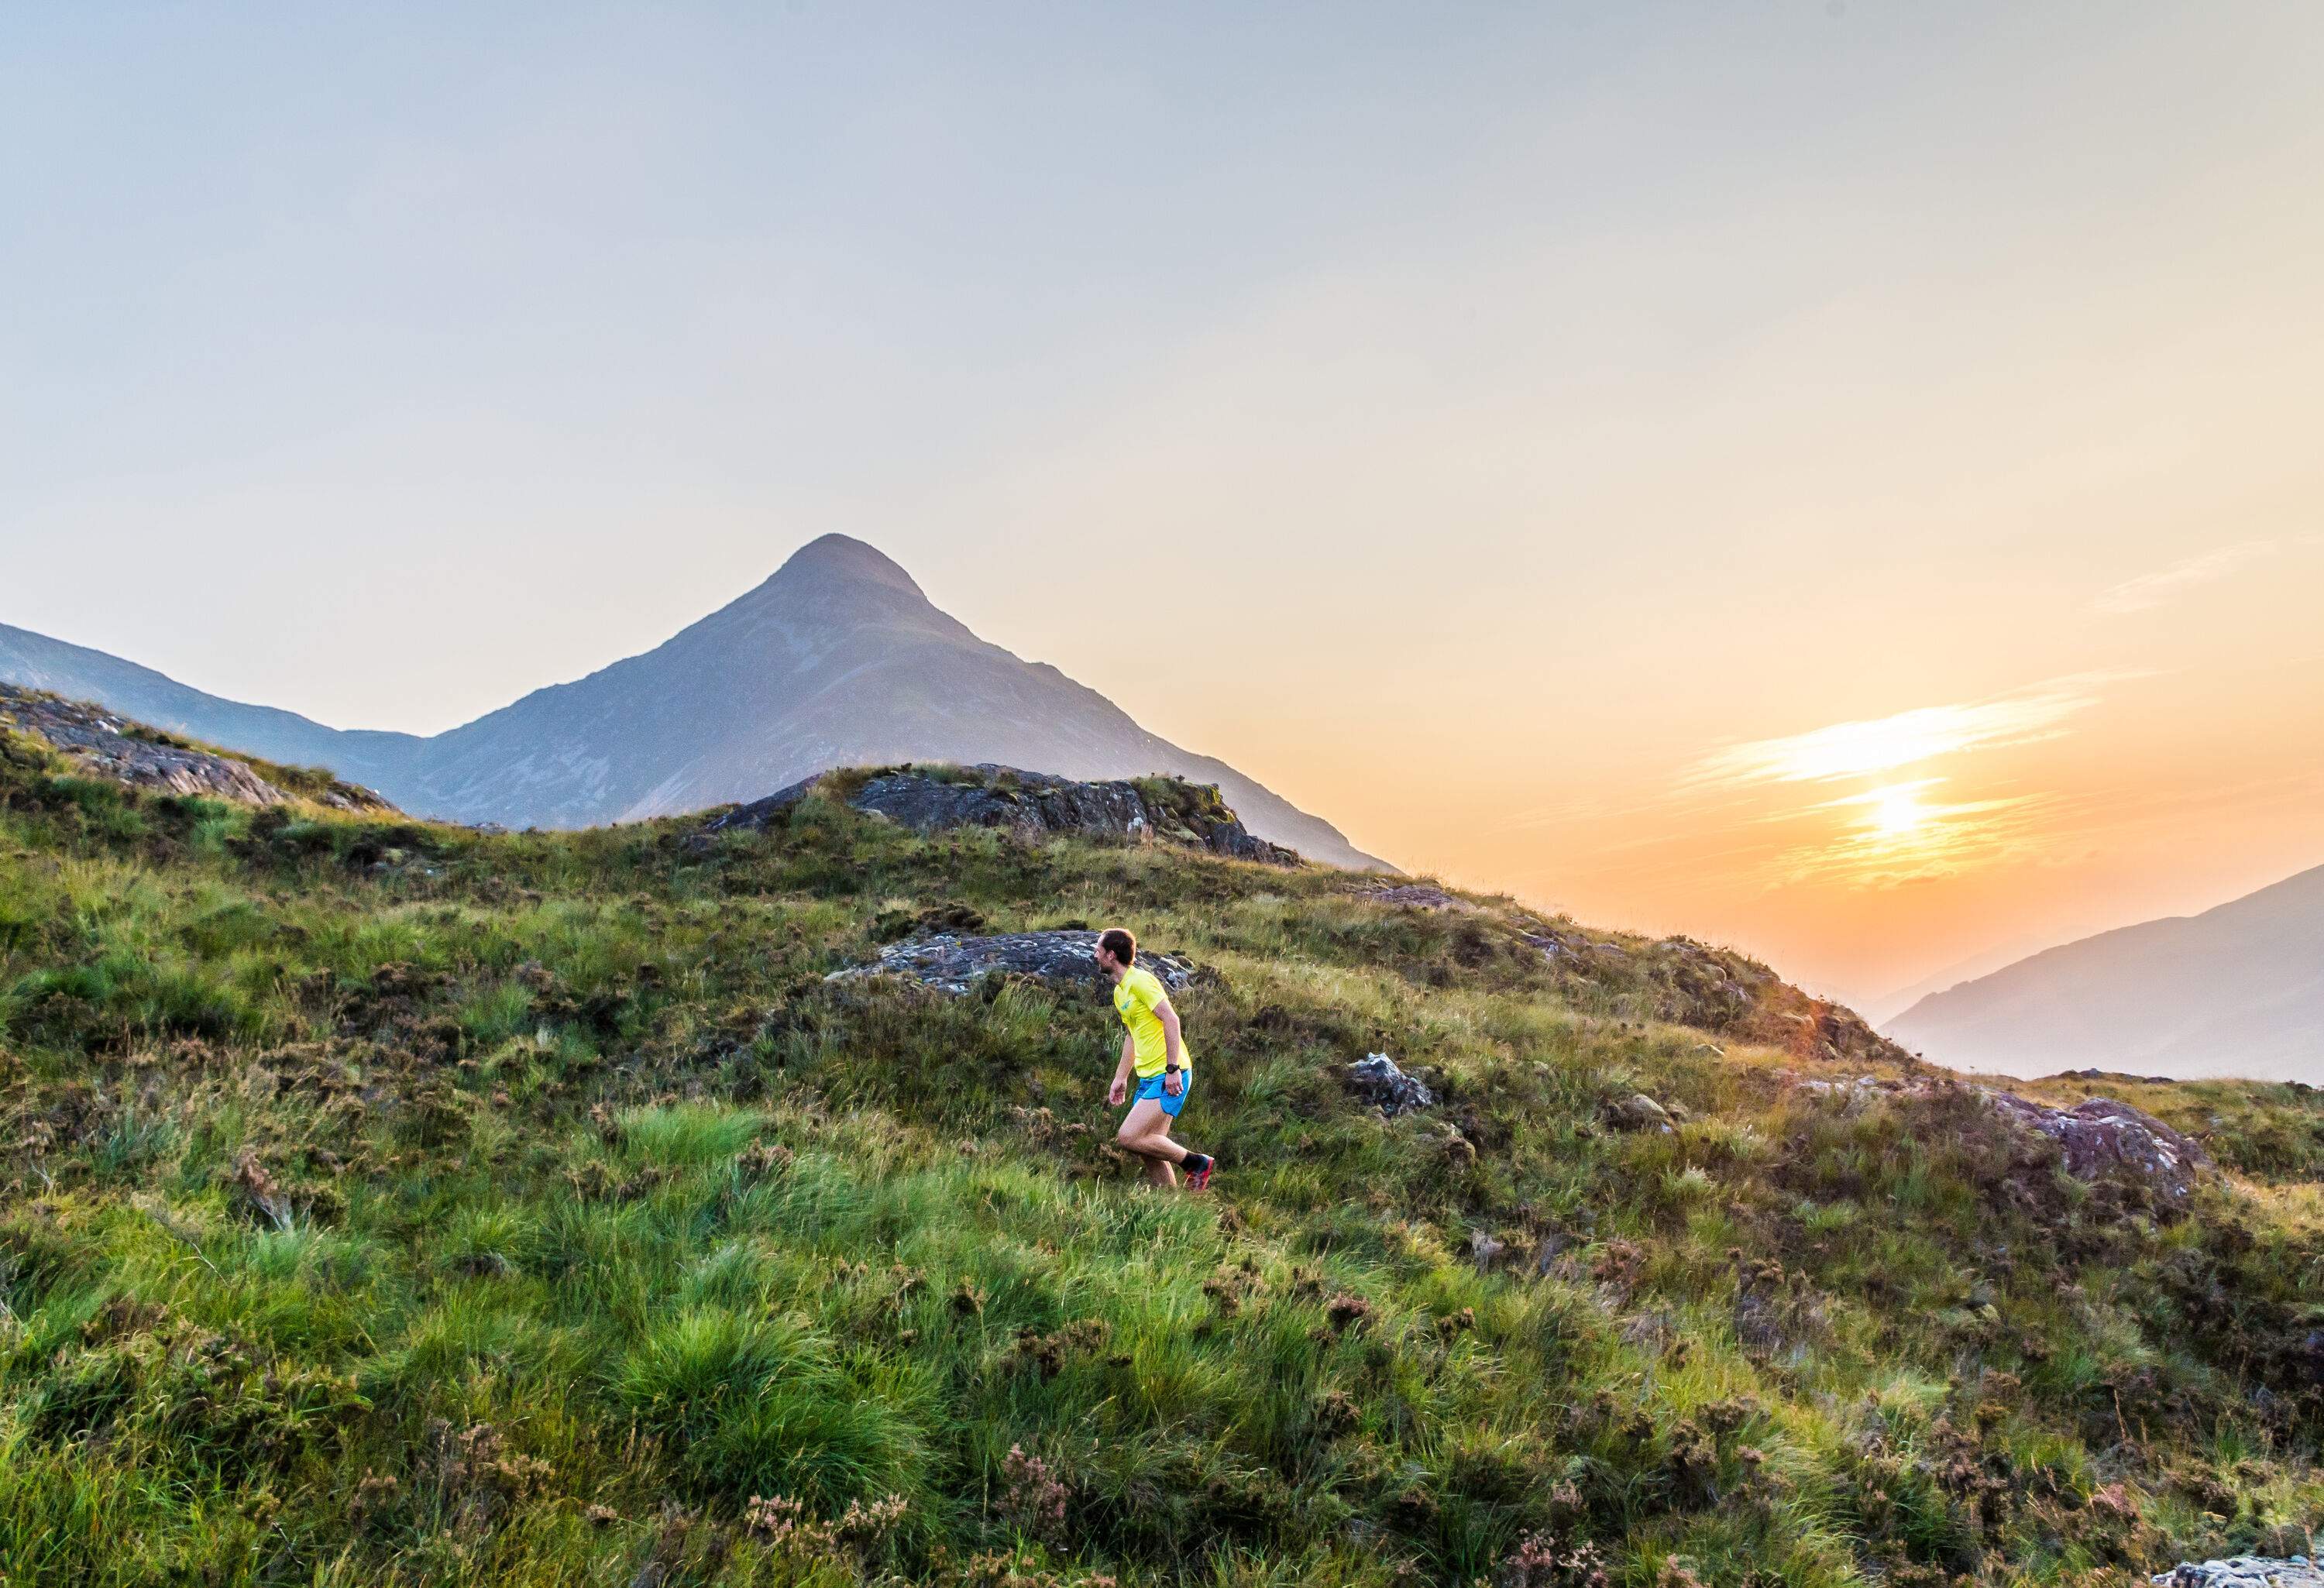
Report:
[[[999,828],[1027,839],[1064,832],[1120,839],[1153,837],[1236,860],[1299,865],[1297,851],[1253,837],[1213,784],[1185,784],[1174,777],[1081,784],[1069,777],[990,763],[883,767],[869,777],[811,777],[765,800],[713,816],[704,832],[762,830],[788,816],[818,784],[858,811],[885,816],[913,832]]]

